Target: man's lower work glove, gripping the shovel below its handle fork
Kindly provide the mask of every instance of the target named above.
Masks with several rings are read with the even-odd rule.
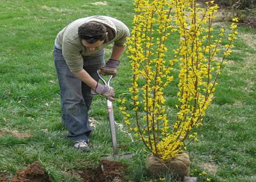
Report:
[[[92,94],[101,94],[104,95],[108,100],[114,101],[114,89],[113,87],[107,86],[107,85],[102,85],[97,83],[96,89],[91,89]]]

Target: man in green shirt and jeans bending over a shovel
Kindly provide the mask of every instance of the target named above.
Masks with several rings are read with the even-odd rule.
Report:
[[[129,29],[121,21],[91,16],[73,21],[56,37],[54,63],[61,93],[62,121],[70,132],[67,138],[76,142],[77,149],[89,149],[88,111],[93,93],[114,101],[114,89],[98,83],[97,70],[100,69],[102,75],[117,75],[118,60],[129,35]],[[112,42],[112,54],[105,63],[104,48]]]

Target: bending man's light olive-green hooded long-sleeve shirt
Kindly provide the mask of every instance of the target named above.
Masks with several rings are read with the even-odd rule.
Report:
[[[110,42],[104,42],[94,51],[90,51],[85,47],[78,36],[78,27],[86,22],[96,21],[104,24],[114,32],[114,39]],[[128,27],[121,21],[108,16],[91,16],[87,18],[80,18],[73,21],[63,30],[61,30],[56,37],[56,45],[62,49],[63,57],[65,58],[71,72],[79,72],[83,69],[83,57],[93,56],[98,54],[102,49],[114,42],[114,45],[123,47],[126,42],[126,37],[130,36]]]

